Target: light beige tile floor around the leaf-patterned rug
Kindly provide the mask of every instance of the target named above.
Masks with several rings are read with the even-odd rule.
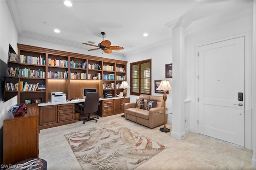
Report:
[[[160,127],[150,129],[121,115],[40,130],[39,157],[47,161],[48,170],[82,170],[64,134],[115,121],[167,147],[136,170],[256,170],[251,167],[252,150],[193,132],[178,140]],[[171,124],[166,127],[172,129]]]

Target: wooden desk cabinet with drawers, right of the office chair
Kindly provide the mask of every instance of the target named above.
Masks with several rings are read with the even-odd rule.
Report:
[[[126,102],[130,102],[130,98],[125,98]],[[123,113],[124,111],[124,98],[111,99],[111,100],[101,100],[100,106],[97,111],[97,115],[101,117],[116,115]]]

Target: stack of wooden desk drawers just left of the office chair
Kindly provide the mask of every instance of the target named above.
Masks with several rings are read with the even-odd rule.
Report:
[[[58,122],[70,121],[75,119],[74,104],[59,104],[58,105]]]

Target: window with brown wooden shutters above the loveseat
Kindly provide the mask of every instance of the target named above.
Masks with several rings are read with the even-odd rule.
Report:
[[[131,63],[131,95],[151,95],[151,59]]]

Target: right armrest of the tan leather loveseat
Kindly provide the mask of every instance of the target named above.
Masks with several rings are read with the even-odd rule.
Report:
[[[159,112],[159,113],[158,113]],[[149,127],[153,129],[158,125],[164,124],[164,116],[166,116],[165,121],[167,121],[167,115],[164,115],[164,107],[154,107],[149,109]]]

